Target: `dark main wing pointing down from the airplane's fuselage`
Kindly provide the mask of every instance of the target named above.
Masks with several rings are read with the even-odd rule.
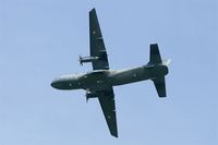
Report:
[[[116,102],[112,87],[107,90],[101,90],[98,96],[104,116],[106,118],[110,134],[118,137],[117,118],[116,118]]]

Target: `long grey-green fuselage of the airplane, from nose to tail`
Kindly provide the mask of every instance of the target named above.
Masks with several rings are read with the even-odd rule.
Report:
[[[124,70],[97,70],[83,74],[62,75],[51,86],[57,89],[102,89],[129,83],[153,80],[168,74],[166,64],[146,64]]]

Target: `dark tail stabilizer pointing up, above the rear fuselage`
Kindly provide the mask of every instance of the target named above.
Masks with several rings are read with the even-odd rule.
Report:
[[[158,63],[161,63],[161,62],[162,62],[162,60],[161,60],[161,57],[160,57],[158,45],[157,44],[150,45],[149,63],[150,64],[158,64]]]

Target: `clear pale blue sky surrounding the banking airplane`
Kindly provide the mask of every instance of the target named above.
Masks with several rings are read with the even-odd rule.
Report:
[[[168,97],[150,81],[114,87],[119,138],[97,99],[61,92],[61,74],[90,71],[88,11],[96,8],[111,69],[171,58]],[[217,0],[0,0],[1,145],[217,145]]]

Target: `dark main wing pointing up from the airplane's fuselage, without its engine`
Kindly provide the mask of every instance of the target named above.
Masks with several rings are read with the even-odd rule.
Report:
[[[109,70],[108,56],[95,9],[89,12],[89,39],[90,57],[99,58],[93,61],[93,70]]]

